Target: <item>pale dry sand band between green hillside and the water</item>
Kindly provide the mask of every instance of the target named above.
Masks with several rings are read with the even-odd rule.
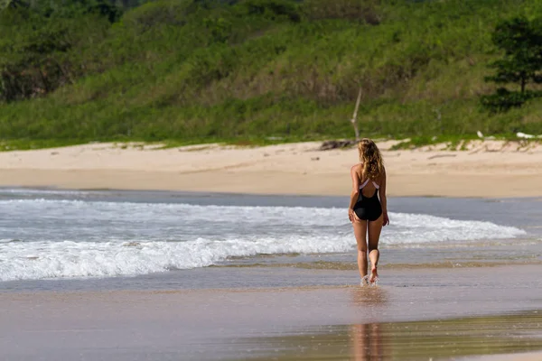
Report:
[[[474,141],[391,151],[378,142],[390,196],[540,197],[542,145]],[[355,148],[321,143],[265,147],[90,143],[0,153],[0,186],[65,189],[185,190],[257,194],[347,195]]]

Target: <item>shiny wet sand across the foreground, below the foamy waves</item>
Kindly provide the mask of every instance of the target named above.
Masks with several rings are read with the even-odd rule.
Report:
[[[539,351],[539,270],[383,270],[373,288],[4,292],[0,349],[9,360],[417,360]]]

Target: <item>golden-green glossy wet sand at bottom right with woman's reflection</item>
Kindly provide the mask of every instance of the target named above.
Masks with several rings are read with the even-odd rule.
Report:
[[[253,360],[540,360],[542,315],[472,317],[415,322],[385,322],[313,328],[307,334],[248,338],[266,345]],[[511,330],[511,331],[510,331]],[[276,349],[283,350],[276,353]],[[274,352],[275,351],[275,352]],[[267,355],[265,355],[267,354]],[[269,356],[275,354],[276,356]],[[538,357],[538,358],[537,358]]]

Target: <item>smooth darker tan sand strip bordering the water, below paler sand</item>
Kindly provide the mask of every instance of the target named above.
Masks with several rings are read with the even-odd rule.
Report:
[[[172,171],[0,170],[0,187],[53,190],[141,190],[261,196],[350,195],[344,174],[306,175],[276,171],[262,180],[259,172],[177,173]],[[215,180],[220,179],[219,182]],[[388,197],[539,198],[541,175],[388,175]],[[479,188],[478,185],[484,187]],[[506,189],[509,184],[512,188]]]

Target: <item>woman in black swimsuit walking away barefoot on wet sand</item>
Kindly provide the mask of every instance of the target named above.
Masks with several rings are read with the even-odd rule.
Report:
[[[348,218],[358,243],[358,268],[361,285],[378,282],[378,238],[383,226],[389,224],[386,201],[386,170],[377,144],[370,139],[358,143],[360,163],[350,170],[352,193]],[[379,196],[379,199],[378,199]],[[367,251],[371,264],[368,275]]]

